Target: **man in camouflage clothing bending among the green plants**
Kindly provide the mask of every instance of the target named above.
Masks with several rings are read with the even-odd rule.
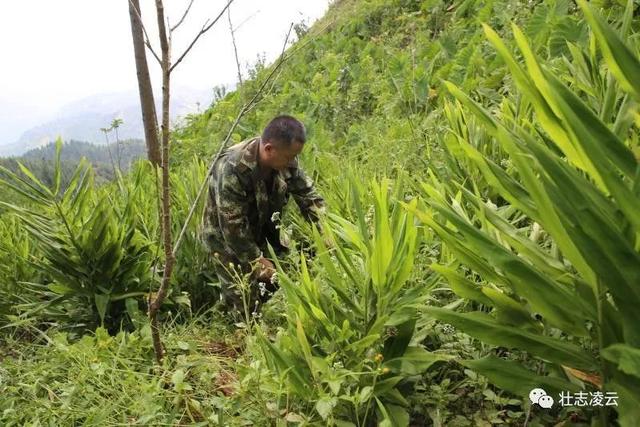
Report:
[[[291,116],[271,120],[262,136],[228,148],[216,161],[209,178],[204,214],[204,239],[214,256],[222,295],[229,309],[254,311],[265,291],[275,290],[273,262],[266,258],[267,243],[276,254],[288,248],[280,242],[275,222],[293,196],[302,215],[317,221],[324,200],[298,166],[304,148],[304,125]],[[250,295],[236,286],[237,276],[251,273]],[[265,289],[265,287],[267,289]],[[262,294],[262,295],[260,295]],[[260,298],[260,296],[263,296]]]

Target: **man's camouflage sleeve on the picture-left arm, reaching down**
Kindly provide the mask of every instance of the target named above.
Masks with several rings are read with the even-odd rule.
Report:
[[[242,264],[262,255],[249,225],[249,200],[238,176],[229,165],[223,167],[216,182],[218,223],[224,242]]]

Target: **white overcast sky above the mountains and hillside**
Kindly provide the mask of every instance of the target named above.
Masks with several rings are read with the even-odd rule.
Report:
[[[153,0],[140,0],[153,42]],[[165,0],[166,15],[176,23],[189,0]],[[313,22],[329,0],[235,0],[231,18],[243,71],[264,52],[279,53],[291,22]],[[186,48],[225,0],[195,0],[173,37],[173,56]],[[159,46],[155,44],[157,52]],[[96,93],[137,88],[127,0],[15,0],[0,4],[0,113],[50,113],[66,103]],[[148,54],[154,86],[158,66]],[[177,86],[211,88],[237,80],[226,15],[205,34],[172,73]],[[246,75],[246,74],[245,74]],[[1,121],[1,119],[0,119]],[[2,123],[0,123],[2,125]],[[9,141],[6,141],[9,142]]]

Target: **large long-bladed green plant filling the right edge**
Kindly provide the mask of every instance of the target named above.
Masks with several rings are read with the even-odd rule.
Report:
[[[640,75],[637,55],[597,12],[583,1],[579,4],[606,66],[628,96],[638,99],[637,79],[631,78]],[[625,22],[632,10],[629,1]],[[425,183],[428,207],[409,207],[440,235],[460,264],[482,280],[461,274],[456,265],[435,269],[454,292],[492,310],[427,312],[482,341],[518,348],[562,367],[573,383],[581,384],[580,379],[617,392],[620,423],[635,425],[640,416],[637,133],[607,126],[603,118],[610,115],[599,117],[575,87],[539,62],[517,26],[513,31],[524,67],[485,27],[524,101],[533,107],[534,118],[496,118],[448,85],[459,108],[471,111],[513,163],[507,173],[456,133],[461,156],[473,162],[508,203],[497,207],[479,191],[463,187],[443,194]],[[617,105],[629,107],[626,102]],[[495,357],[463,363],[525,396],[534,387],[554,392],[575,387]],[[606,408],[601,414],[606,424]]]

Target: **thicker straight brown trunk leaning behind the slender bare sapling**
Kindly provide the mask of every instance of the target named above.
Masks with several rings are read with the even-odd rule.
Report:
[[[160,142],[158,141],[158,118],[156,116],[153,89],[149,76],[149,66],[147,65],[142,22],[140,21],[142,11],[140,10],[139,0],[128,1],[133,51],[136,60],[136,73],[138,75],[138,92],[140,93],[140,106],[142,109],[142,124],[147,145],[147,158],[154,166],[159,166],[162,159]]]

